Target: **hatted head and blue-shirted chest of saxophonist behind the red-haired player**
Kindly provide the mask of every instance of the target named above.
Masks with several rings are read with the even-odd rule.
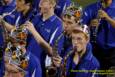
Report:
[[[80,23],[82,15],[82,8],[75,3],[71,3],[62,14],[63,28],[64,28],[64,48],[62,55],[72,48],[71,31],[75,26],[84,26]]]

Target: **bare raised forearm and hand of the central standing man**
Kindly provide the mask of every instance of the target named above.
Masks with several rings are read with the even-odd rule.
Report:
[[[46,50],[49,55],[52,55],[51,46],[41,37],[41,35],[36,31],[33,24],[31,22],[27,22],[27,29],[32,33],[36,41]]]

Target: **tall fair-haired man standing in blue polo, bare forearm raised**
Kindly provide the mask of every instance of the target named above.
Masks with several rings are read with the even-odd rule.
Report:
[[[54,14],[55,5],[56,5],[55,0],[41,0],[39,4],[39,7],[41,9],[40,18],[36,17],[33,20],[34,21],[33,24],[30,22],[27,23],[28,25],[27,29],[34,36],[30,40],[28,49],[40,59],[44,73],[45,73],[46,52],[44,52],[44,49],[42,49],[40,45],[37,44],[37,42],[40,42],[37,39],[38,34],[40,34],[42,38],[47,43],[50,44],[51,47],[55,47],[55,45],[58,44],[56,46],[57,49],[56,52],[58,54],[61,53],[63,47],[63,37],[60,38],[58,42],[56,42],[57,38],[63,32],[63,26],[62,26],[62,21]]]

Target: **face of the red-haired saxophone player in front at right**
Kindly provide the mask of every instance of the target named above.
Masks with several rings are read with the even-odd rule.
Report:
[[[82,52],[87,46],[88,40],[83,33],[72,33],[73,48],[77,49],[77,52]]]

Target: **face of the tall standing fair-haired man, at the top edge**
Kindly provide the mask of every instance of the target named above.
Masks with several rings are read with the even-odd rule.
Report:
[[[41,9],[42,14],[47,14],[48,11],[53,8],[53,6],[50,4],[49,0],[40,0],[39,7]]]

